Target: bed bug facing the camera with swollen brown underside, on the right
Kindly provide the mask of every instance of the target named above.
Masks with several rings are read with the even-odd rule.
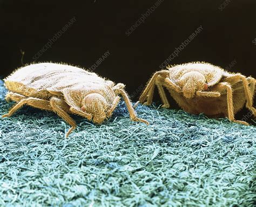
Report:
[[[227,117],[233,122],[248,125],[234,119],[235,113],[246,103],[246,108],[256,116],[253,107],[255,79],[227,72],[210,63],[191,62],[154,73],[134,108],[138,103],[152,103],[155,85],[163,108],[170,108],[165,87],[178,105],[189,113],[204,113],[212,118]]]

